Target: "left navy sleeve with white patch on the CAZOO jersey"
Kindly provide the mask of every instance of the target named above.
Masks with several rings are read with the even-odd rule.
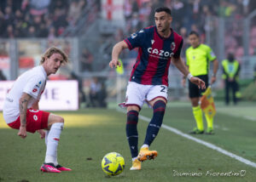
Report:
[[[128,48],[131,50],[133,48],[142,47],[143,39],[146,32],[144,30],[132,33],[130,37],[125,38],[125,43],[127,43]]]

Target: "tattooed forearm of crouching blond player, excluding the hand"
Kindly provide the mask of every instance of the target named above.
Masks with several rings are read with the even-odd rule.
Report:
[[[31,96],[29,94],[23,93],[20,97],[20,126],[26,127],[26,110],[27,110],[27,104],[28,100],[31,99]]]

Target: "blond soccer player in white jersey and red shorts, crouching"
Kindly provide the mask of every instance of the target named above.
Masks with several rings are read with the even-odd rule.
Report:
[[[19,129],[18,135],[22,139],[26,138],[26,132],[36,131],[41,135],[41,139],[45,138],[46,156],[40,168],[43,172],[71,171],[57,161],[57,146],[64,125],[63,117],[40,111],[38,107],[47,77],[55,74],[61,65],[67,62],[67,55],[61,49],[49,48],[42,56],[40,65],[17,78],[4,100],[3,118],[10,128]]]

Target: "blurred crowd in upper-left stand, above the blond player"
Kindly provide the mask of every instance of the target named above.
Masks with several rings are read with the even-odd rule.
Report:
[[[75,25],[87,0],[1,0],[0,37],[60,37]]]

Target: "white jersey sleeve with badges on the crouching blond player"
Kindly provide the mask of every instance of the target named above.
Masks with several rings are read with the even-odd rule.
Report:
[[[40,90],[44,88],[44,82],[45,80],[42,77],[32,77],[26,82],[23,92],[37,100],[41,94]]]

